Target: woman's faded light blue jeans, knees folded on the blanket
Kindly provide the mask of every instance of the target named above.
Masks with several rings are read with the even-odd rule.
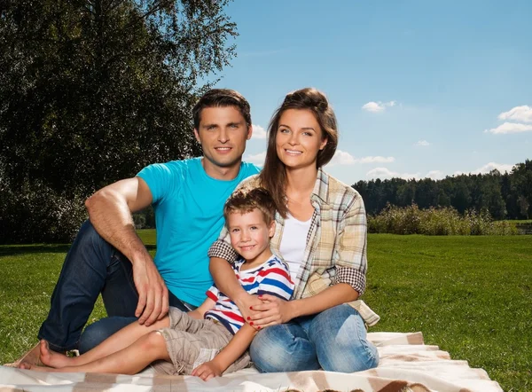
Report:
[[[364,320],[347,304],[265,328],[254,337],[250,354],[260,372],[360,372],[379,365]]]

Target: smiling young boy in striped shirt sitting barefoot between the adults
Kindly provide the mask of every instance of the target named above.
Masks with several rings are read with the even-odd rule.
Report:
[[[290,272],[270,251],[274,214],[270,193],[262,188],[234,193],[223,208],[231,245],[242,256],[233,265],[240,284],[249,294],[289,300],[293,293]],[[246,349],[255,333],[236,304],[212,286],[197,310],[184,313],[170,308],[166,318],[150,326],[128,325],[80,357],[63,356],[41,341],[41,360],[51,367],[22,363],[20,368],[135,374],[157,361],[153,364],[157,372],[209,380],[249,364]]]

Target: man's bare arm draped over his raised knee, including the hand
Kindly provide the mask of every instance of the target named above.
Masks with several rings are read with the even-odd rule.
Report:
[[[142,178],[134,177],[107,185],[85,201],[90,223],[133,266],[138,292],[140,324],[152,325],[168,313],[168,289],[153,263],[152,256],[138,238],[132,212],[152,203],[152,192]]]

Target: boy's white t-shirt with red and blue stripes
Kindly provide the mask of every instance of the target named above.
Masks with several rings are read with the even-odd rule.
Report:
[[[282,300],[289,300],[293,293],[293,281],[285,262],[272,255],[268,261],[251,270],[241,270],[246,261],[239,258],[232,268],[240,285],[247,294],[270,294]],[[229,332],[237,333],[244,325],[239,307],[223,294],[216,286],[207,290],[207,297],[215,301],[215,307],[205,312],[205,318],[212,318],[225,326]]]

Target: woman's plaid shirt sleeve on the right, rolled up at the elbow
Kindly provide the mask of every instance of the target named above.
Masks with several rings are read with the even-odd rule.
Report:
[[[359,194],[340,219],[336,240],[336,281],[347,283],[363,294],[367,271],[367,224],[364,200]]]

